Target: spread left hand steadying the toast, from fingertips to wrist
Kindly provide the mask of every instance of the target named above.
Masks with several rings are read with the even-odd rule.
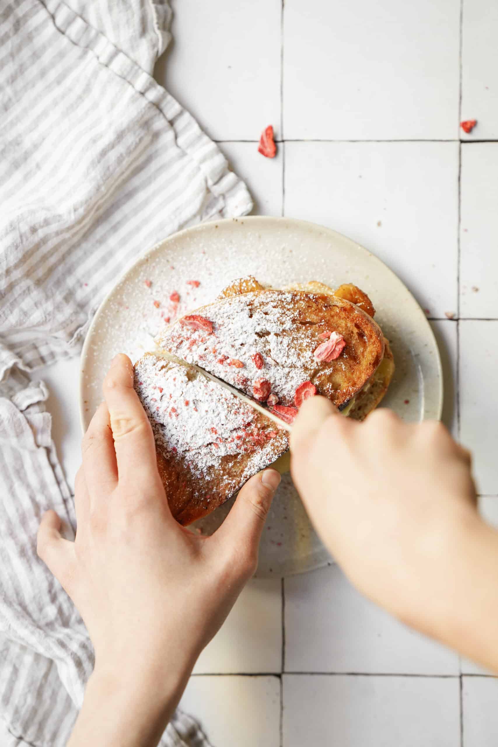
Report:
[[[51,511],[38,553],[87,625],[96,672],[164,687],[172,703],[255,571],[280,475],[252,477],[213,536],[191,533],[169,512],[127,356],[113,360],[104,394],[83,439],[75,542]]]

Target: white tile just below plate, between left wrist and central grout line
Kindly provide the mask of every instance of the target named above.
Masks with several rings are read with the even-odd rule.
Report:
[[[252,579],[194,673],[281,672],[281,580]]]

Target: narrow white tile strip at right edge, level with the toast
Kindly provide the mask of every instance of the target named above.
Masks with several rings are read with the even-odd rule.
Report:
[[[498,493],[498,321],[460,322],[461,442],[473,451],[479,493]],[[479,351],[479,365],[476,365]]]

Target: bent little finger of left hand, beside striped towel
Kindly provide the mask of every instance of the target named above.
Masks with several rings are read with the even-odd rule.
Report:
[[[74,542],[69,542],[60,536],[62,522],[55,511],[43,514],[37,535],[38,557],[48,565],[63,588],[68,592],[68,586],[74,575],[76,558]]]

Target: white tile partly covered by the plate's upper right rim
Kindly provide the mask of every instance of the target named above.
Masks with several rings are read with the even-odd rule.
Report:
[[[284,182],[285,215],[363,244],[432,317],[456,310],[457,143],[285,143]]]

